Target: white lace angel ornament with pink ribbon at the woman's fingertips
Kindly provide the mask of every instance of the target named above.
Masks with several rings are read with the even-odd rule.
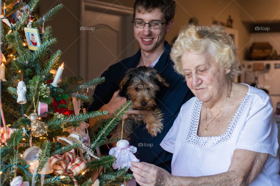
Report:
[[[137,148],[135,146],[130,146],[127,140],[120,140],[117,142],[117,147],[112,148],[109,151],[109,155],[115,156],[116,160],[113,164],[114,169],[123,169],[132,167],[130,162],[139,162],[135,157]]]

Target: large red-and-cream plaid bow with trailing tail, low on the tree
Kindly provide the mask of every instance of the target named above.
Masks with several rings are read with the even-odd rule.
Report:
[[[50,157],[50,164],[57,174],[69,175],[75,185],[78,185],[78,182],[74,176],[77,176],[87,168],[87,161],[76,156],[74,149],[64,153],[63,155]]]

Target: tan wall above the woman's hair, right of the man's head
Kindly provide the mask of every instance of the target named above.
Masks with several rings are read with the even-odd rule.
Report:
[[[238,58],[241,60],[244,57],[245,48],[242,49],[249,41],[249,35],[246,28],[241,22],[242,9],[238,6],[239,1],[231,0],[196,0],[196,1],[176,1],[177,11],[175,15],[175,24],[171,32],[167,35],[167,40],[170,42],[175,35],[178,34],[180,28],[188,24],[191,17],[197,18],[199,25],[209,25],[213,18],[220,22],[226,23],[229,15],[233,19],[233,29],[238,30]],[[241,50],[242,49],[242,50]]]

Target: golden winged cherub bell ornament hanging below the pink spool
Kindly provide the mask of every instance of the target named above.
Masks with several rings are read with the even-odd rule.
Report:
[[[44,122],[38,120],[36,110],[34,110],[30,116],[25,115],[25,117],[31,120],[32,136],[40,137],[48,132],[48,126]]]

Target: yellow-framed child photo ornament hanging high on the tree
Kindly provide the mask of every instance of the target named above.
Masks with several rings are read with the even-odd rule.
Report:
[[[37,28],[24,28],[27,45],[30,50],[38,50],[41,45],[39,31]]]

